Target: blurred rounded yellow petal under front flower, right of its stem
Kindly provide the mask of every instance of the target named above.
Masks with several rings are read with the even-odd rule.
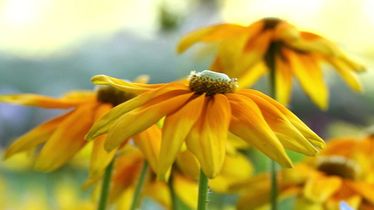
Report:
[[[245,155],[226,155],[220,174],[209,181],[209,185],[218,193],[233,193],[229,188],[236,183],[243,183],[253,174],[252,162]]]

